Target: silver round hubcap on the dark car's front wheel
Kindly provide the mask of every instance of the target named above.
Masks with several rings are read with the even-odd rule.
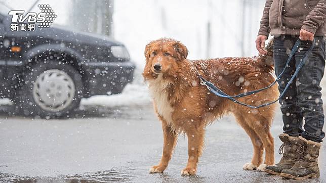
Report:
[[[33,83],[33,98],[40,108],[59,112],[66,109],[75,94],[75,84],[64,71],[51,69],[40,74]]]

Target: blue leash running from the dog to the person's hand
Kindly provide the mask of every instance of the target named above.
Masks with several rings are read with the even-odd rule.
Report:
[[[266,103],[266,104],[262,104],[262,105],[259,105],[259,106],[251,106],[251,105],[248,105],[248,104],[245,104],[245,103],[241,103],[241,102],[235,100],[234,98],[240,98],[240,97],[245,97],[245,96],[257,94],[258,92],[260,92],[260,91],[262,91],[264,89],[267,89],[267,88],[271,87],[272,85],[274,85],[281,78],[281,76],[283,75],[284,71],[289,66],[289,63],[290,63],[292,57],[294,56],[294,54],[296,53],[296,51],[299,49],[300,43],[301,43],[301,41],[300,41],[300,39],[298,39],[297,42],[294,44],[294,46],[292,48],[292,51],[291,51],[291,53],[289,55],[288,61],[286,63],[286,66],[284,67],[284,69],[282,70],[282,72],[276,77],[275,81],[272,84],[270,84],[269,86],[263,87],[261,89],[257,89],[257,90],[253,90],[253,91],[248,91],[247,93],[238,94],[236,96],[229,96],[229,95],[225,94],[221,89],[217,88],[212,82],[204,79],[200,75],[199,75],[199,78],[201,80],[201,83],[203,85],[206,85],[207,88],[213,94],[215,94],[216,96],[227,98],[227,99],[229,99],[229,100],[231,100],[231,101],[233,101],[233,102],[235,102],[237,104],[240,104],[240,105],[243,105],[243,106],[247,106],[247,107],[250,107],[250,108],[254,108],[254,109],[261,108],[261,107],[264,107],[264,106],[269,106],[269,105],[274,104],[275,102],[277,102],[286,93],[287,89],[290,87],[290,84],[295,79],[295,77],[298,75],[300,69],[305,64],[307,58],[311,54],[311,51],[312,51],[312,49],[313,49],[313,47],[315,45],[315,39],[312,41],[312,44],[311,44],[310,49],[308,50],[308,52],[306,52],[306,54],[301,59],[301,62],[299,63],[296,71],[294,72],[293,76],[291,77],[291,79],[289,80],[288,84],[286,85],[286,87],[284,88],[283,92],[280,94],[280,96],[279,96],[279,98],[277,100],[275,100],[273,102]]]

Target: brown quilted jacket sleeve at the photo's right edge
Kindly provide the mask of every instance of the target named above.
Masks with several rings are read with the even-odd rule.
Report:
[[[326,18],[326,0],[320,0],[313,10],[307,15],[306,20],[303,21],[302,29],[312,33],[323,24]]]

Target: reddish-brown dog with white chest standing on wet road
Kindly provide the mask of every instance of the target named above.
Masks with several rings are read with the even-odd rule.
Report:
[[[181,174],[195,174],[202,153],[205,127],[230,112],[248,133],[254,146],[251,163],[243,165],[243,169],[263,170],[266,165],[274,164],[274,140],[270,126],[275,106],[251,109],[235,104],[210,93],[198,78],[200,74],[230,96],[268,86],[274,81],[270,74],[273,66],[268,63],[272,61],[272,52],[264,57],[194,61],[187,60],[187,55],[188,50],[181,42],[168,38],[151,41],[145,48],[143,77],[149,84],[164,133],[161,160],[149,171],[163,172],[171,159],[178,134],[187,133],[189,157]],[[260,105],[277,99],[277,96],[277,86],[274,85],[238,100]],[[262,164],[264,149],[266,156]]]

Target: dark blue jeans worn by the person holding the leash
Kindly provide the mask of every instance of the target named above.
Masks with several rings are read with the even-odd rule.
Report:
[[[298,36],[281,35],[274,37],[273,57],[275,74],[278,76],[289,58]],[[302,136],[307,140],[322,142],[325,133],[322,131],[324,114],[321,100],[320,80],[325,67],[325,37],[315,36],[315,46],[301,68],[297,77],[279,100],[283,118],[283,131],[290,136]],[[299,50],[293,56],[289,67],[278,80],[278,90],[284,90],[294,74],[300,59],[311,47],[312,41],[301,41]],[[303,121],[304,126],[303,126]],[[303,126],[303,127],[302,127]]]

